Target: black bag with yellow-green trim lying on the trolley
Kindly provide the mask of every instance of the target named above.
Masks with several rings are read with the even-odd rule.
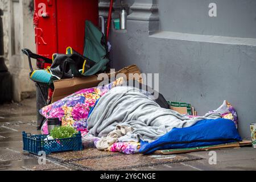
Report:
[[[59,79],[83,77],[82,73],[94,64],[96,64],[94,61],[72,49],[72,54],[53,54],[53,63],[50,71],[53,76]]]

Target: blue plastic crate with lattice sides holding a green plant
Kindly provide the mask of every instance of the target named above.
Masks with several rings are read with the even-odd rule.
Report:
[[[23,150],[38,155],[39,151],[45,151],[46,154],[61,151],[82,150],[81,132],[73,135],[71,138],[44,140],[47,135],[31,135],[22,132]]]

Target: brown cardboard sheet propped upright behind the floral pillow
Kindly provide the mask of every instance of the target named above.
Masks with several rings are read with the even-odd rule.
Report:
[[[141,71],[139,71],[139,68],[137,65],[130,65],[128,67],[125,67],[118,72],[115,72],[115,75],[118,73],[123,73],[126,75],[127,79],[129,78],[129,73],[134,73],[141,75]],[[110,77],[110,73],[108,73]],[[134,78],[134,80],[137,80],[142,83],[142,78]],[[92,88],[95,86],[98,86],[102,80],[97,80],[97,75],[88,76],[88,77],[82,77],[82,78],[68,78],[68,79],[62,79],[62,80],[56,80],[53,82],[54,84],[54,92],[52,95],[52,102],[56,102],[61,100],[62,98],[69,96],[72,93],[75,93],[81,89],[87,89]]]

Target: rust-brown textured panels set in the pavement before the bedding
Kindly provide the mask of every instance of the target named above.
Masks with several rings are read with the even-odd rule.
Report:
[[[48,155],[49,159],[56,160],[81,170],[123,170],[172,164],[201,159],[198,156],[180,155],[125,155],[97,149],[85,149],[76,152],[61,152]]]

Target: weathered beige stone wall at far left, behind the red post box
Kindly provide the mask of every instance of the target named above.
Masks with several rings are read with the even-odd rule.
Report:
[[[32,0],[1,0],[0,8],[4,11],[5,61],[13,77],[13,100],[20,101],[24,93],[35,91],[27,57],[21,52],[22,48],[35,52]]]

